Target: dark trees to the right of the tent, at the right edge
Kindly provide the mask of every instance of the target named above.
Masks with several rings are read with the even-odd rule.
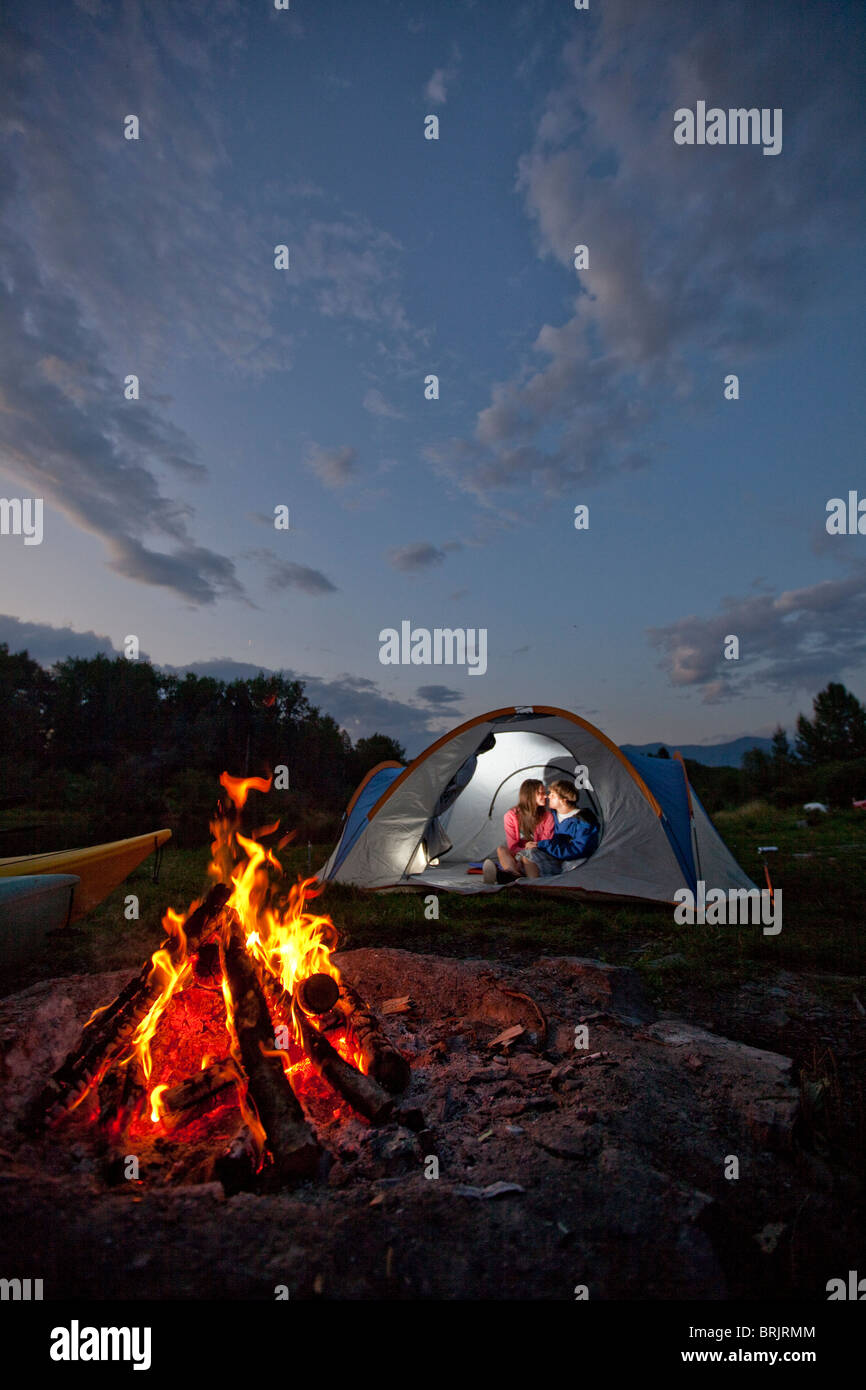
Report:
[[[687,758],[689,781],[706,810],[756,799],[781,809],[808,801],[851,809],[852,799],[866,799],[866,709],[835,681],[815,696],[812,709],[812,719],[798,717],[794,744],[777,728],[770,751],[749,749],[741,767],[706,767]],[[667,749],[659,755],[670,756]]]

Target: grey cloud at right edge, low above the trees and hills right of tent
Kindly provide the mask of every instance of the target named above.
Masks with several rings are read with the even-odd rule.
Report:
[[[671,685],[696,687],[706,703],[742,695],[758,684],[808,691],[866,663],[866,562],[844,578],[783,594],[728,598],[713,617],[689,614],[648,630]],[[724,641],[740,638],[740,659],[724,659]]]

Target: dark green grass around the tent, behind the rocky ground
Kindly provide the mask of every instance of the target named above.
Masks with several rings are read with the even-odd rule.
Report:
[[[666,1005],[689,981],[702,991],[760,979],[777,969],[810,970],[847,977],[851,992],[866,974],[866,815],[837,812],[816,826],[798,826],[798,812],[780,812],[753,802],[723,812],[716,824],[742,867],[763,887],[758,845],[773,844],[776,888],[783,890],[783,930],[765,937],[759,926],[677,926],[670,906],[651,903],[578,902],[523,890],[491,895],[441,894],[439,919],[425,917],[420,894],[361,892],[339,884],[318,899],[339,931],[341,945],[402,947],[442,955],[530,959],[538,955],[588,955],[634,966],[656,1002]],[[316,845],[313,869],[324,863],[329,845]],[[289,878],[306,874],[307,851],[288,849]],[[138,969],[161,941],[168,906],[186,908],[203,895],[209,849],[167,847],[160,883],[146,862],[78,931],[54,937],[3,992],[42,979],[129,967]],[[128,922],[124,902],[139,898],[139,920]],[[827,979],[827,988],[833,988]]]

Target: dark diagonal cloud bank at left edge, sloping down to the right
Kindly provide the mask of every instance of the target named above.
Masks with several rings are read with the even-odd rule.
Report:
[[[232,560],[196,545],[190,507],[174,500],[158,475],[206,475],[190,441],[146,400],[124,400],[79,306],[46,284],[6,221],[0,261],[0,464],[99,537],[115,573],[195,603],[240,598]]]

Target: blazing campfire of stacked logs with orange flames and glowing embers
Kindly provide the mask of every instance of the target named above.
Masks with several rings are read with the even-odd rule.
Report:
[[[334,923],[310,910],[316,880],[285,891],[265,844],[279,823],[242,834],[249,792],[270,780],[220,781],[214,885],[188,913],[168,909],[163,945],[95,1011],[39,1099],[40,1122],[96,1144],[110,1182],[146,1170],[234,1193],[313,1177],[342,1106],[382,1125],[409,1084],[409,1063],[341,980]]]

